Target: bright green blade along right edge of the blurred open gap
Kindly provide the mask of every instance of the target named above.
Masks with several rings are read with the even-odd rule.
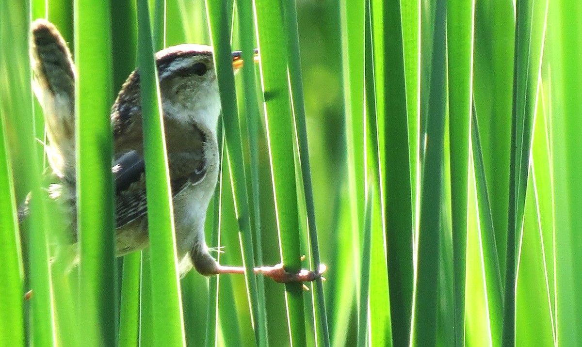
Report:
[[[352,312],[357,305],[360,289],[360,264],[350,259],[361,259],[360,230],[364,223],[361,212],[365,209],[364,192],[364,4],[365,2],[340,1],[340,31],[342,33],[342,78],[345,114],[345,132],[342,134],[342,181],[330,192],[334,201],[335,228],[328,259],[337,276],[327,282],[329,331],[333,345],[349,344],[353,329]],[[356,278],[356,280],[354,280]],[[357,307],[357,306],[356,306]]]

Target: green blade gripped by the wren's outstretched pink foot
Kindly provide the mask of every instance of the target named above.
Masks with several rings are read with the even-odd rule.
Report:
[[[293,113],[290,103],[287,57],[281,42],[287,40],[279,3],[255,2],[258,46],[261,53],[261,84],[264,92],[269,159],[271,160],[275,210],[281,256],[287,271],[301,269],[297,187],[293,153]],[[291,344],[306,344],[303,288],[299,283],[285,285]]]

